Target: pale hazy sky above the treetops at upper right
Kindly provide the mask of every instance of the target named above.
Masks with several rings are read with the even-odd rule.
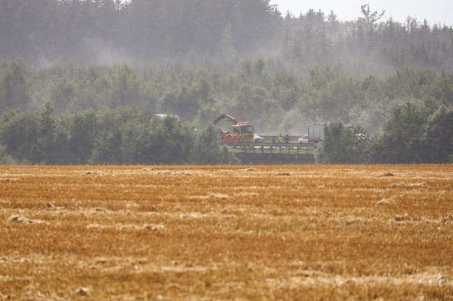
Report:
[[[310,8],[322,10],[329,15],[333,10],[341,21],[357,20],[361,17],[361,5],[370,3],[371,12],[385,10],[384,18],[393,17],[396,22],[405,22],[406,17],[417,17],[419,22],[424,19],[429,24],[453,24],[453,0],[271,0],[277,4],[278,10],[285,15],[287,10],[296,17],[299,13],[307,13]]]

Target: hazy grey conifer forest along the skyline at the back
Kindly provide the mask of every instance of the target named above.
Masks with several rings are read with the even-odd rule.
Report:
[[[369,4],[357,20],[308,10],[282,14],[270,0],[0,0],[0,61],[93,64],[261,55],[301,74],[315,64],[355,75],[398,68],[452,71],[452,24],[384,18]]]

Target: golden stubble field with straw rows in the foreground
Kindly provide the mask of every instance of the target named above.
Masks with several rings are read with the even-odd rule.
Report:
[[[453,166],[1,166],[0,300],[453,300]]]

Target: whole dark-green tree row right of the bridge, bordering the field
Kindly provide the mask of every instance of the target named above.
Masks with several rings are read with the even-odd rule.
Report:
[[[334,164],[453,163],[453,105],[397,105],[382,133],[332,122],[317,147],[317,162]]]

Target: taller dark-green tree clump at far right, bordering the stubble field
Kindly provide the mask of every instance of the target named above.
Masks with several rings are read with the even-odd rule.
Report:
[[[429,104],[429,103],[427,103]],[[435,110],[410,103],[394,109],[384,124],[384,133],[371,144],[373,163],[447,163],[453,154],[453,109]]]

